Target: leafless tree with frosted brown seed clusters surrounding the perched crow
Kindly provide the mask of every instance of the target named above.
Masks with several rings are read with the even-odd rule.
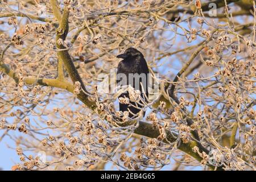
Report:
[[[14,170],[255,169],[255,1],[2,0],[0,23]],[[128,47],[159,83],[129,89],[144,118],[99,89]]]

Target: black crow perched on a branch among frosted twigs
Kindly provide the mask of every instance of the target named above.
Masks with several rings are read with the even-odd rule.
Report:
[[[137,49],[130,47],[126,49],[123,54],[118,55],[117,57],[123,59],[120,61],[117,67],[117,84],[119,86],[130,85],[134,88],[134,90],[139,90],[141,92],[141,97],[147,102],[144,95],[146,94],[148,98],[149,71],[144,56]],[[142,107],[142,102],[139,102],[139,100],[138,102],[134,102],[134,98],[130,98],[130,96],[129,92],[124,92],[118,97],[129,98],[129,100],[131,100],[130,105],[121,104],[119,102],[119,110],[130,110],[131,112],[129,113],[129,117],[132,118],[134,114],[139,113],[141,110],[140,108]]]

